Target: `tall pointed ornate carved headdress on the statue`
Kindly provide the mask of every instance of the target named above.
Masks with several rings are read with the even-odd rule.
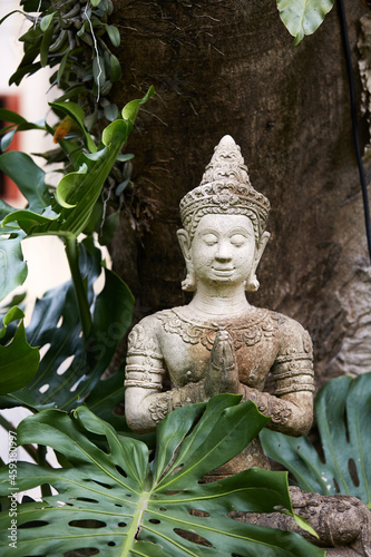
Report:
[[[248,216],[258,238],[266,226],[270,202],[251,185],[238,145],[233,137],[224,136],[199,186],[183,197],[179,207],[183,226],[191,237],[204,215],[216,213]]]

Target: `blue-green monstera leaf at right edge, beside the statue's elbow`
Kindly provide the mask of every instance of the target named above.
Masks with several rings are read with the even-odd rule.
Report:
[[[343,375],[320,389],[314,404],[323,458],[306,437],[263,430],[265,453],[306,491],[353,495],[371,508],[371,373]]]

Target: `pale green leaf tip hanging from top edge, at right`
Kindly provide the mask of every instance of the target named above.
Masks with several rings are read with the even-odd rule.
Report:
[[[332,9],[334,0],[277,0],[280,17],[297,45],[312,35]]]

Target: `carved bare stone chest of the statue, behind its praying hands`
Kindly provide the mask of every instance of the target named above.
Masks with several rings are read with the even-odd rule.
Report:
[[[207,324],[192,322],[174,310],[164,312],[159,342],[172,388],[205,379],[215,338],[226,330],[233,339],[240,381],[263,389],[279,352],[280,323],[272,312],[256,312],[255,319]]]

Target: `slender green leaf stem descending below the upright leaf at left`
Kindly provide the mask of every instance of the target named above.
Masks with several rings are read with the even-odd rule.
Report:
[[[75,287],[75,293],[77,297],[77,305],[79,309],[79,315],[82,326],[82,334],[85,341],[89,336],[91,329],[91,315],[89,310],[89,302],[87,297],[86,287],[80,273],[79,267],[79,248],[77,238],[75,236],[65,237],[66,255],[71,271],[72,283]]]

